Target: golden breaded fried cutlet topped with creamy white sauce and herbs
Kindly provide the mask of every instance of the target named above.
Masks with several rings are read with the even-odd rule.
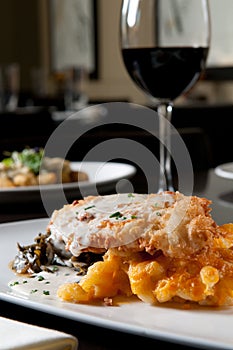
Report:
[[[55,210],[47,230],[53,244],[65,242],[74,256],[112,248],[185,257],[218,235],[210,203],[179,192],[89,196]]]

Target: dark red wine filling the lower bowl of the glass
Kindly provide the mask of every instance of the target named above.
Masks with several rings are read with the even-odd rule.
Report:
[[[123,60],[131,78],[150,95],[174,100],[200,77],[206,47],[126,48]]]

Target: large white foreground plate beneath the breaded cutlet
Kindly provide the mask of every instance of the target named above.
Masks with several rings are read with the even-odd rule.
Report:
[[[196,307],[185,310],[151,306],[141,301],[119,306],[92,306],[65,303],[49,297],[21,297],[13,294],[8,282],[14,279],[8,265],[16,253],[16,242],[30,244],[44,232],[48,219],[0,225],[0,299],[42,312],[113,330],[209,349],[233,349],[233,307]]]

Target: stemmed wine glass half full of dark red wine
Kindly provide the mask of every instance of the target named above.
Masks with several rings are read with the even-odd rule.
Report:
[[[122,57],[132,80],[159,116],[159,190],[174,191],[171,117],[174,100],[205,68],[210,43],[208,0],[123,0]]]

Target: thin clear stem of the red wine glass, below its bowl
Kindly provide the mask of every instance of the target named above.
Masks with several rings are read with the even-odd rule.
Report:
[[[174,191],[171,170],[171,117],[172,103],[161,103],[158,106],[159,140],[160,140],[160,178],[159,192]]]

